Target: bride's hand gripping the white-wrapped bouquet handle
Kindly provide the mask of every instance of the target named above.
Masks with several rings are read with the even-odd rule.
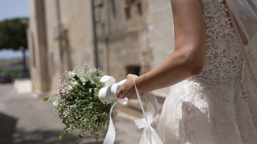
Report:
[[[134,86],[134,79],[138,76],[134,74],[128,74],[126,79],[127,81],[121,86],[119,91],[117,92],[117,97],[120,99],[128,98],[128,99],[137,99],[136,89]],[[142,95],[139,91],[139,95]]]

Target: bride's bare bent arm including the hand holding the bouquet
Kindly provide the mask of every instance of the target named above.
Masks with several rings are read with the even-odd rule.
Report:
[[[133,80],[140,94],[168,87],[199,74],[205,61],[205,22],[199,0],[171,0],[175,51],[158,67],[137,77],[128,75],[118,98],[136,99]]]

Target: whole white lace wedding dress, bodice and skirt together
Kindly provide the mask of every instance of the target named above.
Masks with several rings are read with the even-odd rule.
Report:
[[[203,71],[171,87],[156,131],[165,144],[256,144],[257,88],[226,5],[200,2],[207,35]],[[252,41],[257,46],[256,35]],[[250,62],[257,68],[256,58]]]

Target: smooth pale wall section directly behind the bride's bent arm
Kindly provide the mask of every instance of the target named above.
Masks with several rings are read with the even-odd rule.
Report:
[[[175,47],[173,17],[170,0],[150,0],[150,46],[152,51],[151,69],[165,60]],[[155,95],[166,97],[170,88],[155,91]]]

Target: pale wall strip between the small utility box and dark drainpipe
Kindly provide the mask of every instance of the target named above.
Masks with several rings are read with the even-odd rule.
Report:
[[[94,67],[93,27],[90,0],[60,0],[61,23],[67,29],[72,68],[84,63]]]

